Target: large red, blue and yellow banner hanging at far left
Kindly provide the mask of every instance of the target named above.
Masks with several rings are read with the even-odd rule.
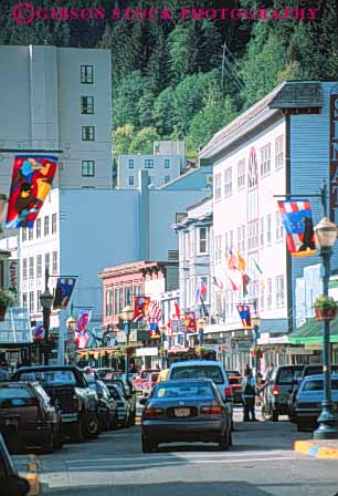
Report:
[[[55,156],[15,156],[4,227],[33,227],[51,190],[56,164]]]

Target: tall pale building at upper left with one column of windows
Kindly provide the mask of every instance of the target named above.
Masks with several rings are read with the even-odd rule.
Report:
[[[28,151],[62,151],[55,187],[113,187],[110,52],[6,45],[0,65],[0,190]]]

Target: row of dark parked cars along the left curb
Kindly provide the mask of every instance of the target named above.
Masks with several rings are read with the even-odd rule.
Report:
[[[0,428],[9,450],[50,453],[65,441],[135,424],[133,385],[112,374],[86,379],[72,365],[17,370],[10,382],[0,382]]]

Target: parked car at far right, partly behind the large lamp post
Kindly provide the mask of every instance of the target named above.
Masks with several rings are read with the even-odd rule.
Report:
[[[331,375],[331,392],[332,402],[336,409],[338,409],[338,374]],[[313,430],[317,426],[323,399],[324,375],[317,374],[304,378],[299,385],[295,403],[295,422],[298,431]]]

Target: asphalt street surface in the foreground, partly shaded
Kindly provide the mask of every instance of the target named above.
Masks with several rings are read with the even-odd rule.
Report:
[[[337,461],[292,451],[293,440],[309,437],[286,420],[236,422],[228,452],[212,444],[167,445],[144,455],[139,426],[104,433],[40,457],[43,495],[335,496]]]

